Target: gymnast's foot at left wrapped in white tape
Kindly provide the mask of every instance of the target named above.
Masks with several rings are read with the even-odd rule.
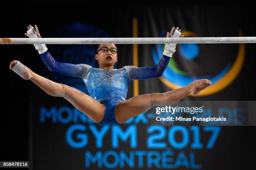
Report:
[[[23,65],[21,62],[17,60],[13,60],[10,62],[9,66],[10,70],[13,70],[16,72],[20,77],[22,77],[25,80],[30,80],[31,79],[31,70]]]

